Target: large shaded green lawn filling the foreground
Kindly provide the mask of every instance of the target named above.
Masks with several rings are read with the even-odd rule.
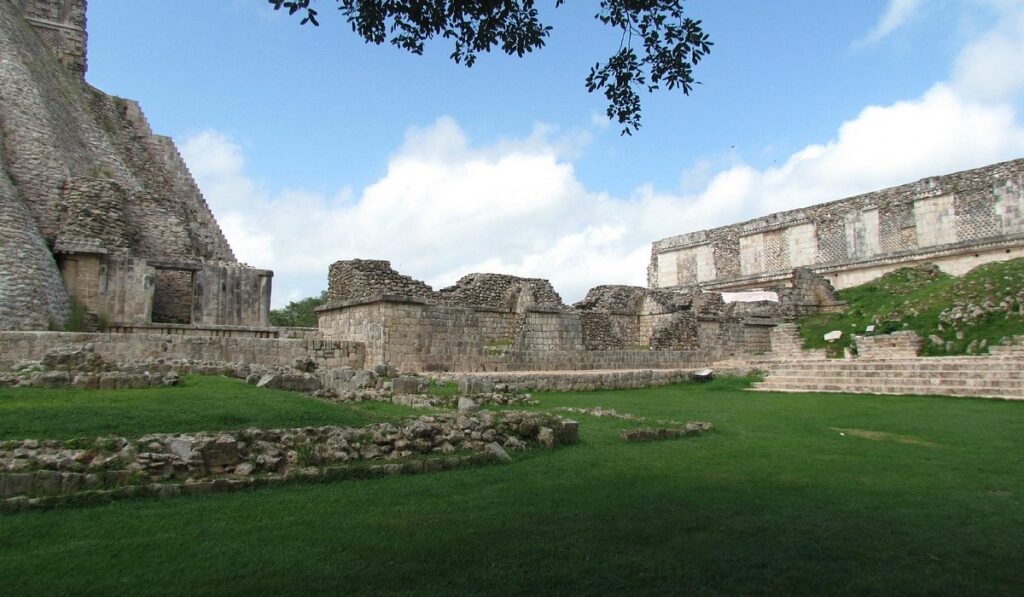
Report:
[[[0,516],[0,591],[1024,591],[1024,403],[741,386],[538,395],[714,423],[700,437],[573,415],[580,444],[509,465]]]

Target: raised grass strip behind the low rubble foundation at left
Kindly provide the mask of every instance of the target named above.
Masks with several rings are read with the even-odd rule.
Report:
[[[364,426],[415,413],[382,402],[339,407],[226,377],[185,377],[169,388],[51,390],[0,388],[0,439],[137,437],[154,432],[246,427]]]

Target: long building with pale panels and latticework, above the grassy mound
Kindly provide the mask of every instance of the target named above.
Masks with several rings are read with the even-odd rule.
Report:
[[[754,288],[807,266],[845,288],[893,262],[1006,259],[1024,247],[1022,214],[1016,160],[657,241],[648,286]]]

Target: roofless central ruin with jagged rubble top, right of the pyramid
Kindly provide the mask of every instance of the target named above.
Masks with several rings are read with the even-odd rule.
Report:
[[[673,369],[770,350],[783,311],[829,300],[802,274],[783,302],[600,286],[565,305],[546,280],[470,273],[439,291],[384,260],[331,265],[317,309],[326,340],[367,347],[367,367],[400,371]],[[809,298],[810,297],[810,298]]]

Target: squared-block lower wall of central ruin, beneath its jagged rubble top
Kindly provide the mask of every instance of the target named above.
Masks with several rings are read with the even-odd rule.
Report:
[[[367,367],[388,364],[399,371],[528,371],[590,369],[674,369],[698,367],[716,357],[761,353],[770,348],[773,321],[714,317],[698,322],[669,315],[674,326],[658,329],[669,338],[647,346],[589,348],[584,321],[590,316],[636,316],[604,312],[527,310],[523,313],[430,304],[379,297],[362,303],[334,303],[317,311],[325,339],[359,342]],[[519,332],[509,342],[511,326]],[[615,338],[624,336],[616,334]],[[679,349],[685,345],[686,349]],[[638,349],[639,348],[639,349]]]

